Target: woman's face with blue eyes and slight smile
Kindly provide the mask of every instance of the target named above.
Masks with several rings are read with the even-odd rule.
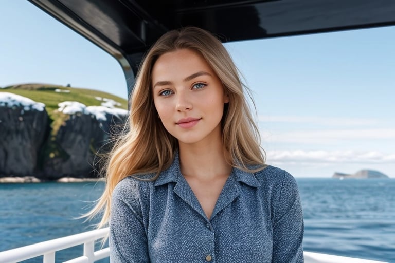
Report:
[[[180,144],[221,140],[224,103],[220,79],[190,49],[161,55],[152,69],[153,98],[159,118]]]

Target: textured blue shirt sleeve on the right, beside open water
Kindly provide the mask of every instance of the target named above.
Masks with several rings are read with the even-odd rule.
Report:
[[[303,262],[303,232],[298,186],[295,178],[284,172],[274,208],[272,262]]]

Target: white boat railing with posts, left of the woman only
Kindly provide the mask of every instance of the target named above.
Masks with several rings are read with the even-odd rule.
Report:
[[[76,235],[35,243],[33,245],[0,252],[0,263],[16,263],[38,256],[44,256],[43,263],[55,263],[55,253],[59,250],[84,245],[83,256],[67,263],[93,263],[110,256],[110,248],[95,251],[95,241],[109,233],[109,228],[92,230]],[[65,263],[66,263],[65,262]]]

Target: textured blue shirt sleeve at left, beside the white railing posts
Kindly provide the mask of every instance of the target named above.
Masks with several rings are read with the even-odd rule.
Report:
[[[139,191],[124,179],[115,187],[111,201],[110,262],[149,261]]]

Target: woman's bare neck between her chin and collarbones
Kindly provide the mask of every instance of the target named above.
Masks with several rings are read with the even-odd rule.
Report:
[[[232,168],[225,160],[220,140],[205,145],[179,144],[179,161],[185,177],[201,180],[228,176]]]

